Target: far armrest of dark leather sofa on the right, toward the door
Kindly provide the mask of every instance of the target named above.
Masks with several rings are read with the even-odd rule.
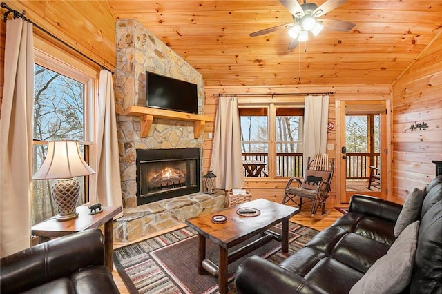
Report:
[[[389,222],[396,222],[401,210],[400,204],[368,195],[355,194],[350,199],[350,213],[362,213]]]

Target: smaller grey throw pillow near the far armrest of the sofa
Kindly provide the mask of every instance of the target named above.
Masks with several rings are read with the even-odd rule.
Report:
[[[402,206],[401,213],[399,213],[398,220],[394,225],[394,236],[398,237],[404,228],[406,228],[412,222],[419,219],[419,214],[422,209],[422,202],[424,198],[423,190],[415,188],[410,194]]]

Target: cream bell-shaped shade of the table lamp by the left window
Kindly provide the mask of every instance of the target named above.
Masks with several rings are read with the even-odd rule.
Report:
[[[32,179],[68,179],[94,173],[81,157],[77,141],[49,141],[48,154]]]

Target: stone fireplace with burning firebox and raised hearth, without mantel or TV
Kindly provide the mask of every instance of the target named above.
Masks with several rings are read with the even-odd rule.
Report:
[[[225,197],[224,191],[214,195],[201,192],[204,141],[203,135],[195,138],[192,121],[154,118],[145,134],[141,118],[126,115],[131,106],[146,107],[146,71],[197,84],[201,115],[204,112],[202,75],[136,20],[117,20],[115,43],[115,109],[124,216],[114,222],[114,240],[127,242],[182,225],[189,217],[220,210],[224,208]],[[138,186],[137,177],[144,168],[140,168],[141,161],[154,161],[152,157],[142,159],[141,153],[175,155],[182,149],[198,150],[198,155],[187,157],[192,158],[189,161],[172,157],[144,162],[150,165],[145,168],[147,177],[142,180],[148,185],[147,188]],[[171,170],[164,172],[162,167],[166,164]]]

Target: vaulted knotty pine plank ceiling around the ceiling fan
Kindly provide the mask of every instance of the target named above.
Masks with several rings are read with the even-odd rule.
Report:
[[[441,0],[349,0],[321,18],[354,22],[351,31],[323,30],[287,50],[286,29],[249,37],[293,22],[278,0],[108,3],[201,72],[205,86],[390,85],[442,28]]]

